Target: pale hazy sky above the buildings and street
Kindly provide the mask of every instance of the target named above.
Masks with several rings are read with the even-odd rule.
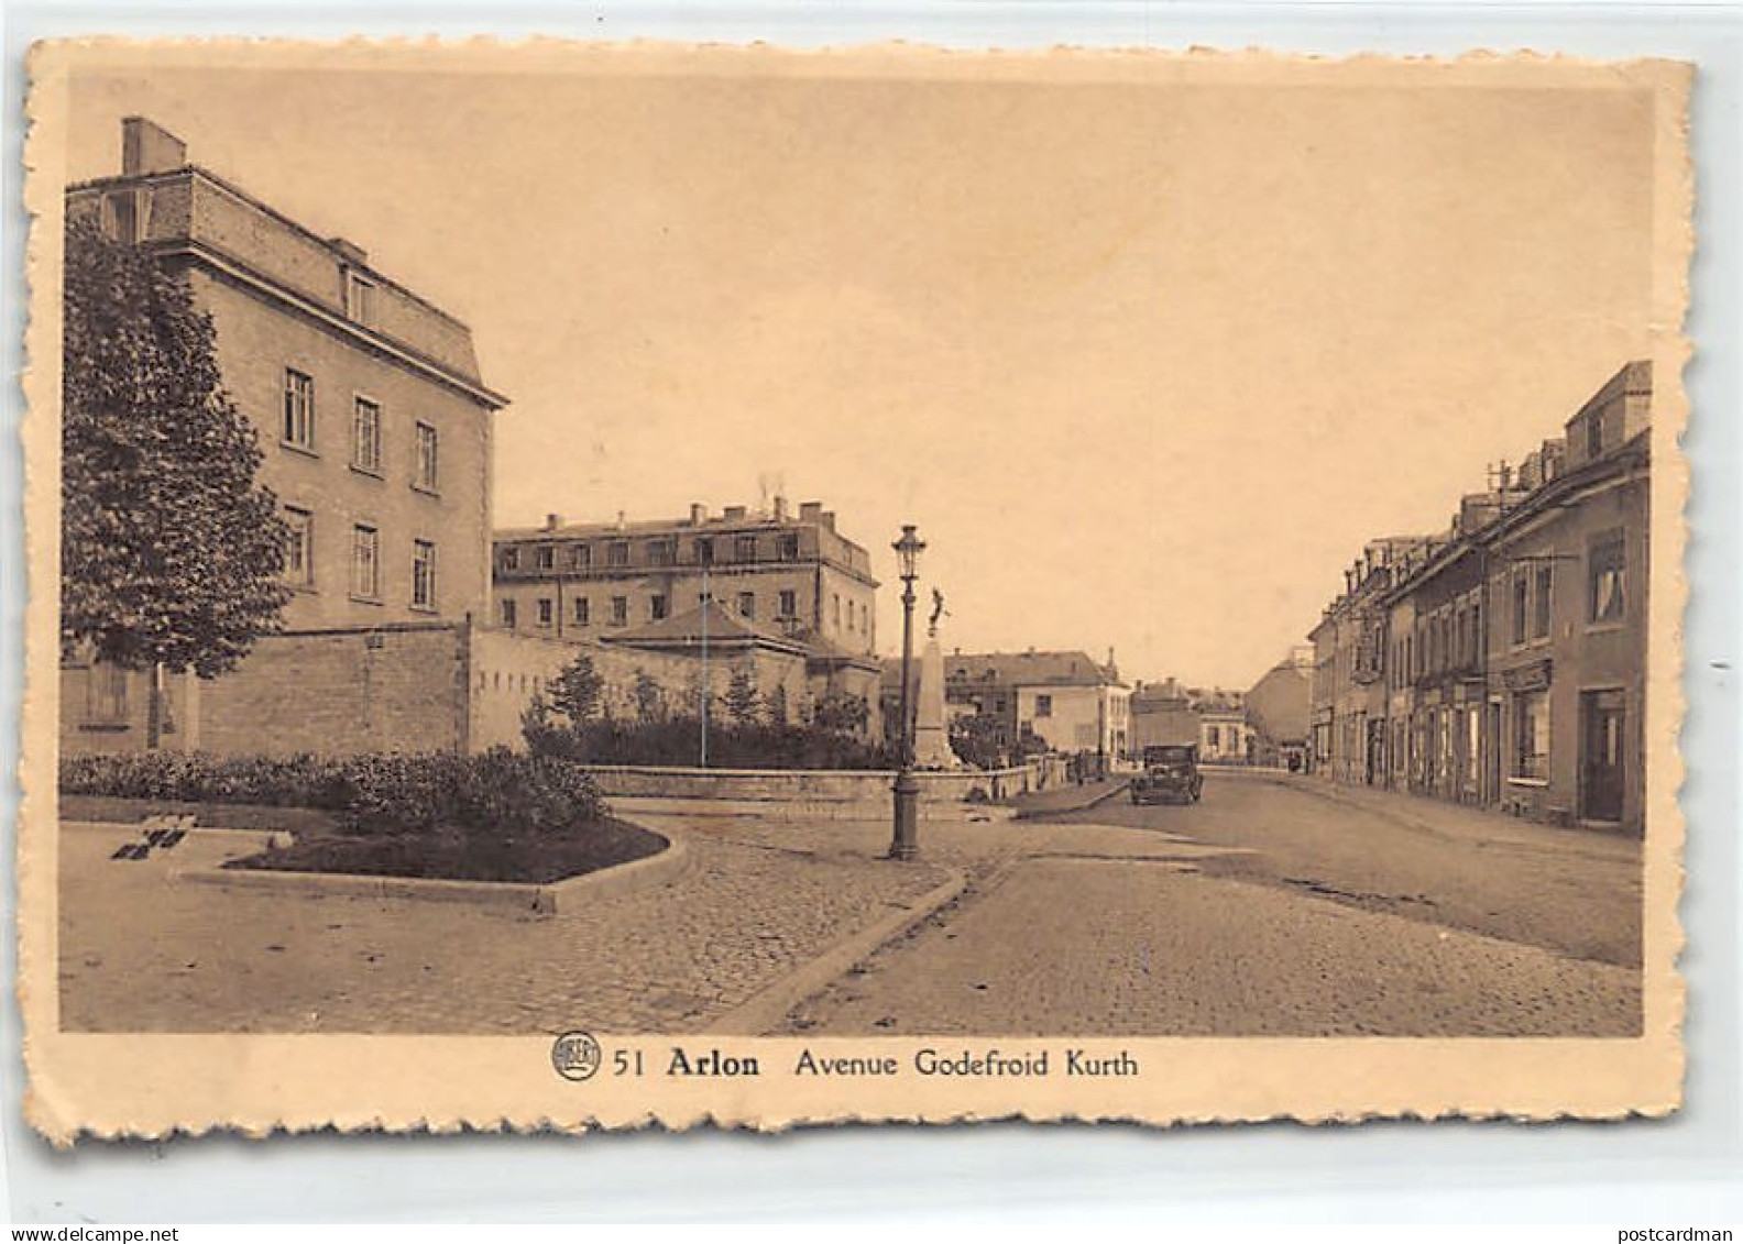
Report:
[[[1651,101],[770,75],[87,73],[467,321],[497,521],[823,500],[945,643],[1246,686],[1647,350]]]

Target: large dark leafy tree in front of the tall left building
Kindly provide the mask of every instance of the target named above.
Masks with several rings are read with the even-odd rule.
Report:
[[[254,483],[253,425],[223,390],[211,319],[181,279],[91,220],[66,228],[61,648],[221,674],[281,627],[289,531]]]

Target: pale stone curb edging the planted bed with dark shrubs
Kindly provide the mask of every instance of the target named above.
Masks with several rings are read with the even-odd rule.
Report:
[[[657,833],[650,829],[648,833]],[[424,903],[472,903],[509,908],[539,916],[575,911],[587,903],[676,882],[690,868],[690,852],[668,831],[659,831],[666,850],[657,855],[614,864],[561,882],[455,882],[424,876],[361,876],[356,873],[291,873],[265,868],[171,868],[173,882],[218,885],[235,890],[270,890],[317,897],[418,899]]]

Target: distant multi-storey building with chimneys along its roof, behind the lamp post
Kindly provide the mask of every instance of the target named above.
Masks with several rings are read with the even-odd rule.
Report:
[[[697,660],[711,643],[753,660],[795,714],[807,700],[851,695],[866,700],[877,730],[878,584],[866,551],[819,502],[793,512],[777,497],[767,512],[736,505],[713,516],[692,505],[683,519],[634,523],[551,516],[497,531],[493,545],[504,631]]]

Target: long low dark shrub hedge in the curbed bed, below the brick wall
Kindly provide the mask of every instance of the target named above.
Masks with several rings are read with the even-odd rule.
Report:
[[[467,836],[561,833],[605,814],[598,784],[556,756],[497,747],[479,756],[63,756],[61,791],[138,800],[265,803],[338,814],[354,833]]]

